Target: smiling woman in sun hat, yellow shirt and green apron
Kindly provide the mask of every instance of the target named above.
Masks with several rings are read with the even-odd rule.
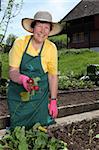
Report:
[[[53,23],[47,11],[37,12],[34,19],[22,19],[22,26],[32,34],[16,39],[9,53],[11,128],[23,125],[29,128],[37,122],[49,125],[58,115],[58,83],[57,48],[47,38],[63,27]]]

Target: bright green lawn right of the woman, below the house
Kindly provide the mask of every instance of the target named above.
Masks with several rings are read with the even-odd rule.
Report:
[[[71,71],[75,75],[86,74],[86,68],[89,64],[99,64],[99,52],[82,51],[62,52],[59,55],[59,71],[61,74],[68,74]]]

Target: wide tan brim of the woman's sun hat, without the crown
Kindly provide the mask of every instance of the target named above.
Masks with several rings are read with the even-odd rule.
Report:
[[[33,33],[33,28],[31,27],[31,23],[34,21],[35,20],[31,18],[23,18],[21,23],[22,23],[23,28],[26,31]],[[44,21],[44,20],[40,20],[40,21]],[[53,22],[51,23],[52,23],[52,30],[50,31],[49,36],[56,35],[62,31],[64,25],[60,23],[53,23]]]

